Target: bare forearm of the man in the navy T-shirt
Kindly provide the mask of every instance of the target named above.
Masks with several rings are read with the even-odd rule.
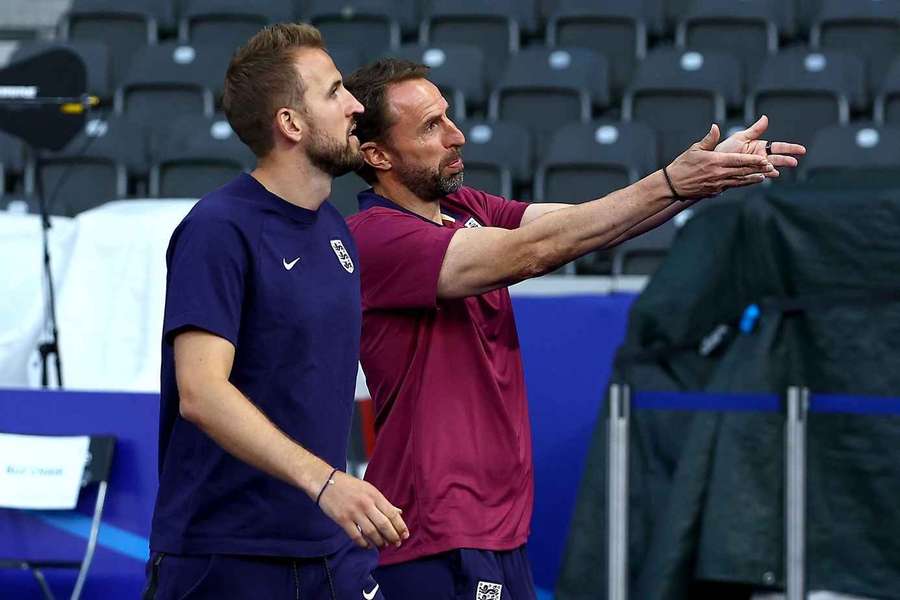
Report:
[[[331,467],[285,435],[231,383],[209,383],[190,396],[187,402],[182,397],[183,416],[229,454],[315,497]]]

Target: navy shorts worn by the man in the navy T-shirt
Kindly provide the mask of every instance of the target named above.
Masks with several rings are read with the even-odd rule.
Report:
[[[143,600],[385,600],[378,553],[348,540],[329,556],[275,558],[154,553]]]

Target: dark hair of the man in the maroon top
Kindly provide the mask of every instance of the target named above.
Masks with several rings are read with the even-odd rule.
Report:
[[[410,79],[425,79],[428,71],[428,67],[420,63],[382,58],[360,67],[344,81],[344,87],[365,108],[365,112],[356,118],[355,133],[361,144],[384,141],[384,134],[394,124],[386,101],[388,88]],[[368,164],[364,164],[357,173],[367,183],[375,182],[375,169]]]

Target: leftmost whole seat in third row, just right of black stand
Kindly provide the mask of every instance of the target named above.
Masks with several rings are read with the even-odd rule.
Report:
[[[129,175],[146,170],[146,145],[138,125],[123,119],[90,119],[59,152],[29,159],[27,195],[41,195],[53,214],[75,216],[129,195]]]

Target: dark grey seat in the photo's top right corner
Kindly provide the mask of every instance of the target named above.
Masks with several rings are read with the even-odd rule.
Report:
[[[900,2],[823,0],[809,33],[814,49],[844,50],[866,61],[874,96],[894,57],[900,54]]]

